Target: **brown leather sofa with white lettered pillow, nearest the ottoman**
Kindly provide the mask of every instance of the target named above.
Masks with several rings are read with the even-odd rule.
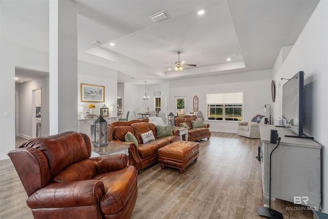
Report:
[[[144,120],[132,120],[129,122],[115,122],[108,124],[108,141],[129,146],[129,165],[133,165],[138,171],[158,162],[157,150],[163,146],[180,140],[178,131],[171,136],[156,137],[157,130],[154,124]],[[142,144],[141,133],[152,130],[155,140]],[[132,142],[125,142],[125,135],[131,132],[138,140],[138,146]]]

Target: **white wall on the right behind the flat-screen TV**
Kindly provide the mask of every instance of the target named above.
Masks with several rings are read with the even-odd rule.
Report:
[[[298,71],[304,71],[304,84],[313,83],[313,137],[322,145],[323,197],[322,211],[328,213],[328,138],[326,111],[328,109],[328,1],[321,0],[302,33],[298,37],[282,66],[274,73],[274,79],[290,78]],[[282,114],[282,85],[277,86],[275,114]]]

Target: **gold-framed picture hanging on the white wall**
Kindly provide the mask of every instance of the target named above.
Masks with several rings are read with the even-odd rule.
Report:
[[[105,86],[81,84],[81,102],[105,103]]]

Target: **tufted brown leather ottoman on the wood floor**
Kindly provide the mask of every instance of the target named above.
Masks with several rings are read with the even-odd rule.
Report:
[[[199,156],[198,142],[178,141],[161,147],[157,151],[158,163],[162,169],[166,166],[179,169],[182,174],[185,169]]]

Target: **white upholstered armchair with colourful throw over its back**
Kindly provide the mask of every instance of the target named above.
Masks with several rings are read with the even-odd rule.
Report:
[[[258,120],[258,115],[257,120]],[[253,117],[252,121],[255,121]],[[238,122],[238,129],[237,134],[244,137],[249,138],[260,138],[260,124],[264,124],[265,118],[268,118],[267,116],[261,117],[259,123],[258,122]]]

